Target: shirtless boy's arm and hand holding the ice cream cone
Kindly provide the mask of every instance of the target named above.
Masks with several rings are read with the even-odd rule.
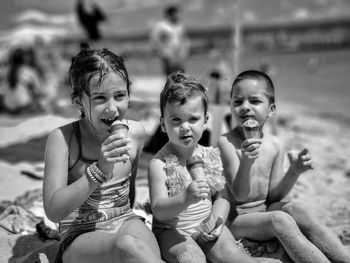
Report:
[[[242,143],[242,159],[237,156],[237,149],[226,137],[220,137],[218,147],[228,187],[237,201],[245,201],[250,192],[250,170],[258,158],[260,139],[248,139]]]

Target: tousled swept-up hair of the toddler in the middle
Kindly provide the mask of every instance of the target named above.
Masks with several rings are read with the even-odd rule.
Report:
[[[204,107],[204,115],[208,112],[208,95],[204,86],[194,77],[177,71],[168,75],[167,81],[160,93],[160,113],[164,115],[166,103],[183,105],[188,98],[200,96]]]

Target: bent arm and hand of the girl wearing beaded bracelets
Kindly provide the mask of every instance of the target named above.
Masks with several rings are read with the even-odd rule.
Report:
[[[43,201],[46,215],[53,222],[62,220],[79,207],[98,187],[98,183],[88,179],[86,170],[73,183],[67,184],[69,140],[63,129],[66,128],[55,129],[49,135],[45,149]],[[111,135],[103,142],[97,166],[105,175],[112,172],[115,162],[127,160],[123,156],[130,149],[128,142],[128,139],[118,139],[118,135]]]

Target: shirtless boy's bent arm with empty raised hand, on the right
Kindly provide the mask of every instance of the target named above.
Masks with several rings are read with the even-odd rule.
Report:
[[[293,188],[295,182],[298,180],[299,175],[311,167],[311,156],[306,149],[299,153],[289,152],[288,158],[290,161],[290,167],[282,177],[284,151],[282,150],[281,143],[277,141],[277,139],[275,143],[278,153],[271,171],[269,194],[267,198],[268,204],[281,201],[286,197]]]

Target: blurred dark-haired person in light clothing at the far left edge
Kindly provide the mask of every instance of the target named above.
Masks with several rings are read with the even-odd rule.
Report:
[[[37,66],[32,49],[16,48],[9,57],[3,107],[10,113],[40,111],[43,71]]]

